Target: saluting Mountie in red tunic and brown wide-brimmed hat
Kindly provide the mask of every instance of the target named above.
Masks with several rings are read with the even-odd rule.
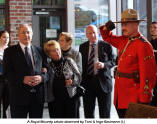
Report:
[[[104,41],[118,49],[118,67],[115,75],[114,104],[120,118],[125,117],[129,103],[149,103],[156,81],[153,48],[139,32],[138,13],[127,9],[122,13],[122,36],[113,35],[112,21],[100,27]]]

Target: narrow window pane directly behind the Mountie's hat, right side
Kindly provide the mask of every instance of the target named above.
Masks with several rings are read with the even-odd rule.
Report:
[[[146,8],[146,0],[135,0],[135,9],[137,10],[140,19],[147,19],[147,8]],[[147,23],[140,23],[140,32],[147,37]]]

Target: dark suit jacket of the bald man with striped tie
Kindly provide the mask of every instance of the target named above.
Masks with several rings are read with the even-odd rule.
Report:
[[[79,51],[82,54],[82,83],[81,85],[86,87],[87,77],[87,68],[88,68],[88,53],[89,53],[89,41],[80,45]],[[102,90],[105,93],[112,91],[112,77],[111,77],[111,68],[114,66],[114,56],[112,47],[103,41],[98,41],[98,58],[100,62],[105,64],[104,69],[98,70],[98,79],[101,85]]]

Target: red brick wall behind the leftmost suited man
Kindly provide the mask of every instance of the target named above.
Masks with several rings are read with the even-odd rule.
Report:
[[[32,24],[32,0],[9,0],[9,22],[11,45],[18,43],[20,24]]]

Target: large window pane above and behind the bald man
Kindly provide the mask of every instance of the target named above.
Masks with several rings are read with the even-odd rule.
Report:
[[[75,45],[80,45],[87,40],[85,29],[89,24],[99,27],[108,21],[108,0],[75,0],[74,4]]]

